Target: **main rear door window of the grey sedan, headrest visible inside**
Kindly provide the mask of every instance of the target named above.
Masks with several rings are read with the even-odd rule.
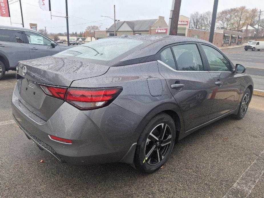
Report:
[[[172,51],[179,71],[204,71],[196,44],[176,45],[172,47]]]

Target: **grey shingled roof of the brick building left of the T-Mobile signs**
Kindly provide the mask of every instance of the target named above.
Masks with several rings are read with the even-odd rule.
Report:
[[[126,23],[133,31],[148,31],[149,27],[152,26],[158,19],[142,19],[142,20],[134,20],[134,21],[118,21],[116,22],[116,31]],[[107,32],[114,31],[114,24],[111,25],[107,30]]]

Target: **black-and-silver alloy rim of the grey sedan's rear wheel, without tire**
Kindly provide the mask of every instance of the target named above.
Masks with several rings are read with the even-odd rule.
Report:
[[[168,153],[172,140],[170,127],[163,123],[156,126],[149,134],[145,144],[145,159],[149,165],[156,165]]]

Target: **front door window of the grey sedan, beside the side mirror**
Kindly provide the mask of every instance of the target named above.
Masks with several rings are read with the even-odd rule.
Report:
[[[220,52],[207,45],[202,45],[202,48],[209,62],[210,71],[230,71],[229,61]]]

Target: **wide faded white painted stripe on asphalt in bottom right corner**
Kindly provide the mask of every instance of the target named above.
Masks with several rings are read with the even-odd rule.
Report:
[[[223,198],[248,197],[264,173],[264,151],[239,177]]]

